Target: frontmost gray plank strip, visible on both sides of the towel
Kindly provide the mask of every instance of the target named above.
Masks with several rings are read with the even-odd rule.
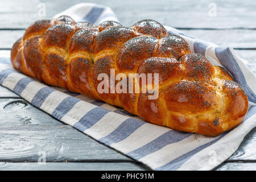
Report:
[[[0,171],[142,171],[150,170],[132,162],[97,163],[0,163]],[[214,171],[255,171],[256,163],[222,163]]]

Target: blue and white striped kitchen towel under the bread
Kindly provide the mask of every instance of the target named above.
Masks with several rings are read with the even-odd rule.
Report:
[[[93,3],[80,3],[55,17],[60,15],[94,24],[105,20],[117,21],[109,7]],[[250,107],[244,121],[235,129],[218,137],[204,137],[152,125],[123,109],[47,86],[23,75],[11,65],[10,51],[0,55],[0,84],[60,121],[154,170],[213,169],[228,159],[245,135],[256,126],[256,78],[231,47],[218,47],[175,28],[166,28],[170,34],[187,40],[192,52],[199,52],[214,65],[228,69],[234,80],[245,89]]]

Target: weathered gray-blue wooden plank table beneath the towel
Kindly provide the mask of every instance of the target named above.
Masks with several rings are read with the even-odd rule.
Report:
[[[56,13],[80,2],[86,1],[0,1],[0,53],[10,52],[12,44],[23,35],[31,22],[50,19]],[[125,26],[131,26],[141,19],[155,19],[195,38],[220,46],[232,46],[256,73],[256,1],[93,2],[111,7]],[[40,16],[40,8],[44,5],[45,17]],[[256,128],[246,135],[238,150],[215,169],[255,170],[255,146]],[[46,164],[39,164],[38,160],[44,154]],[[0,87],[0,169],[148,168],[57,121],[10,90]]]

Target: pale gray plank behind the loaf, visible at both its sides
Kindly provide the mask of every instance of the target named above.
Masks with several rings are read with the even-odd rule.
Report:
[[[0,48],[11,48],[25,30],[0,30]],[[181,30],[184,34],[218,46],[256,48],[256,30]]]

